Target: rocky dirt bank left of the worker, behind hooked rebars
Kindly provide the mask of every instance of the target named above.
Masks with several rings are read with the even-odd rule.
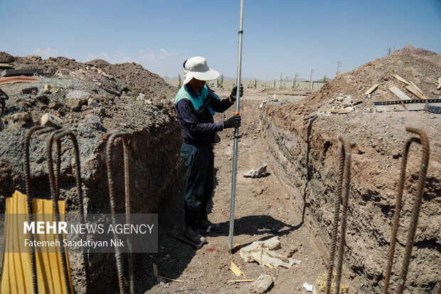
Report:
[[[105,63],[105,61],[102,61]],[[184,173],[180,161],[181,135],[169,97],[177,89],[166,85],[141,65],[105,64],[105,70],[73,59],[57,57],[42,60],[39,56],[15,58],[14,68],[42,69],[33,83],[1,85],[9,95],[6,100],[4,130],[0,134],[0,212],[5,199],[14,190],[25,191],[23,176],[23,140],[33,125],[40,125],[41,116],[48,112],[60,117],[63,128],[72,130],[80,148],[80,168],[84,203],[88,214],[110,213],[105,164],[105,135],[112,130],[129,133],[129,169],[132,213],[156,213],[160,201],[174,194],[176,182]],[[97,63],[97,65],[103,66]],[[119,73],[118,68],[124,73]],[[117,76],[129,75],[137,68],[136,85],[149,99],[139,96],[139,90]],[[154,98],[154,99],[151,99]],[[162,99],[167,98],[167,100]],[[47,135],[31,141],[31,177],[34,195],[50,198],[46,166]],[[73,150],[63,143],[60,164],[60,199],[67,200],[69,212],[75,212],[76,193],[73,184]],[[115,165],[122,166],[119,145]],[[170,177],[170,174],[176,177]],[[118,169],[115,179],[123,179]],[[122,181],[115,182],[115,192],[123,191]],[[123,201],[123,200],[122,200]],[[123,202],[117,206],[123,212]],[[73,283],[77,293],[85,293],[81,258],[70,258]],[[111,292],[117,288],[115,259],[97,255],[91,259],[89,292]]]

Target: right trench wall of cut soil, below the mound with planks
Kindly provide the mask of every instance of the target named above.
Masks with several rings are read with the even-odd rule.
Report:
[[[303,225],[329,250],[337,186],[337,140],[340,134],[356,142],[352,149],[348,231],[344,255],[344,283],[351,293],[380,293],[389,249],[400,171],[400,153],[408,134],[405,125],[426,130],[431,140],[431,161],[420,212],[406,289],[433,293],[441,275],[441,183],[438,120],[422,112],[396,114],[305,115],[300,103],[269,103],[262,113],[262,137],[270,163],[285,184],[291,200],[303,211]],[[404,117],[403,117],[404,115]],[[390,125],[390,121],[394,124]],[[425,122],[426,121],[426,122]],[[360,122],[364,122],[360,125]],[[373,127],[375,126],[375,127]],[[360,132],[363,134],[360,134]],[[392,142],[383,140],[382,137]],[[413,147],[408,161],[403,209],[390,290],[397,275],[410,221],[420,169],[420,150]]]

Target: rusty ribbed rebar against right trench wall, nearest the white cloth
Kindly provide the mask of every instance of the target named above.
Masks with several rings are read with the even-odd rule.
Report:
[[[331,231],[331,252],[329,254],[329,264],[326,277],[326,294],[331,293],[332,273],[334,271],[334,258],[336,251],[336,236],[339,226],[339,214],[341,207],[341,228],[339,239],[339,252],[336,264],[336,283],[334,293],[340,293],[341,268],[343,267],[344,245],[346,241],[346,224],[349,206],[349,182],[351,180],[351,143],[346,137],[339,136],[341,149],[339,152],[339,182],[334,203],[334,220]]]

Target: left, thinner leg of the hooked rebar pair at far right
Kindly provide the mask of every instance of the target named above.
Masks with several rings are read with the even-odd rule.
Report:
[[[389,288],[390,272],[392,271],[392,264],[393,264],[393,253],[395,252],[395,243],[398,233],[398,219],[400,218],[400,211],[401,211],[401,199],[403,199],[405,169],[408,164],[409,147],[410,144],[412,144],[412,142],[418,142],[419,144],[421,144],[420,138],[418,137],[409,137],[404,144],[403,160],[401,161],[400,179],[398,181],[398,195],[395,202],[395,213],[393,214],[392,236],[390,236],[388,265],[386,268],[386,275],[384,279],[384,287],[383,287],[384,294],[388,293],[388,288]]]

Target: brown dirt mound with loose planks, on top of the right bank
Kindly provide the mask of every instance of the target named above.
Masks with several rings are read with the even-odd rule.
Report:
[[[437,80],[441,77],[441,65],[434,64],[427,58],[398,54],[378,58],[361,65],[348,73],[341,73],[330,83],[326,83],[319,91],[305,98],[304,104],[311,107],[334,107],[332,98],[341,94],[351,95],[353,102],[361,101],[358,107],[371,107],[373,101],[398,100],[389,88],[397,87],[412,99],[415,95],[405,90],[405,83],[392,75],[400,75],[410,80],[429,98],[438,98],[441,91],[436,89]],[[371,95],[364,95],[372,85],[378,88]]]

